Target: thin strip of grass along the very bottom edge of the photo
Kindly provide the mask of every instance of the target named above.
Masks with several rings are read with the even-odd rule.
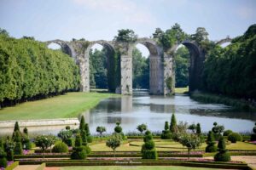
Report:
[[[121,170],[121,169],[137,169],[137,170],[190,170],[190,169],[216,169],[206,167],[177,167],[177,166],[93,166],[93,167],[61,167],[61,170]]]

